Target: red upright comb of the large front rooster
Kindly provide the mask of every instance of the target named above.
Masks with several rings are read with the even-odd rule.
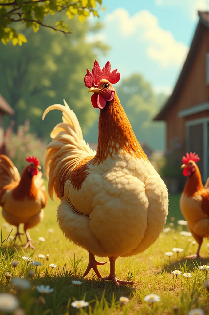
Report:
[[[117,69],[113,71],[110,71],[110,69],[111,65],[109,60],[107,61],[106,65],[102,68],[102,70],[99,66],[99,62],[95,60],[92,72],[86,69],[87,74],[84,77],[85,85],[88,88],[91,88],[92,86],[98,86],[99,81],[102,79],[106,79],[112,84],[117,83],[120,80],[121,75],[119,72],[117,72]]]

